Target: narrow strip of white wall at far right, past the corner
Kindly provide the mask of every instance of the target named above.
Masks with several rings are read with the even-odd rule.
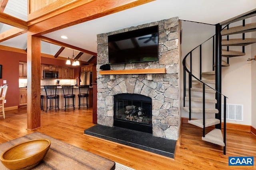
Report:
[[[252,18],[252,23],[256,22],[256,17]],[[252,33],[252,38],[256,38],[256,32]],[[251,45],[251,56],[256,56],[256,44]],[[256,128],[256,61],[252,61],[252,127]]]

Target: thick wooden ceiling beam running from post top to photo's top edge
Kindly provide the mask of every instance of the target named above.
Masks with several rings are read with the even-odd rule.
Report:
[[[31,25],[31,23],[28,22],[28,36],[44,35],[152,1],[154,0],[93,0],[77,8],[67,10],[57,16],[53,16],[52,18],[40,21],[39,23]]]

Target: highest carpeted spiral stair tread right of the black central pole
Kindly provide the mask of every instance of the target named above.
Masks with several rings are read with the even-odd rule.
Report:
[[[255,31],[256,29],[256,23],[249,23],[246,24],[244,27],[242,25],[231,27],[229,29],[223,29],[220,33],[221,35],[232,35],[232,34],[238,34],[238,33],[247,33]]]

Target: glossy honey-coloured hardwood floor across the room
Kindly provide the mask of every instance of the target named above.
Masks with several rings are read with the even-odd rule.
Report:
[[[223,155],[222,147],[201,140],[202,129],[182,123],[181,144],[176,146],[173,160],[83,135],[84,129],[94,126],[90,108],[41,111],[41,127],[34,131],[26,130],[26,107],[6,111],[5,115],[6,119],[0,118],[0,143],[38,131],[136,170],[230,170],[228,156],[254,156],[256,162],[256,137],[249,131],[228,129],[226,155]],[[250,169],[256,169],[256,165]]]

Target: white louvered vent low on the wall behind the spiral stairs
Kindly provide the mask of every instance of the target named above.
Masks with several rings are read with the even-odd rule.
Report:
[[[221,118],[224,118],[224,104],[221,107]],[[243,121],[243,105],[226,104],[226,119]]]

